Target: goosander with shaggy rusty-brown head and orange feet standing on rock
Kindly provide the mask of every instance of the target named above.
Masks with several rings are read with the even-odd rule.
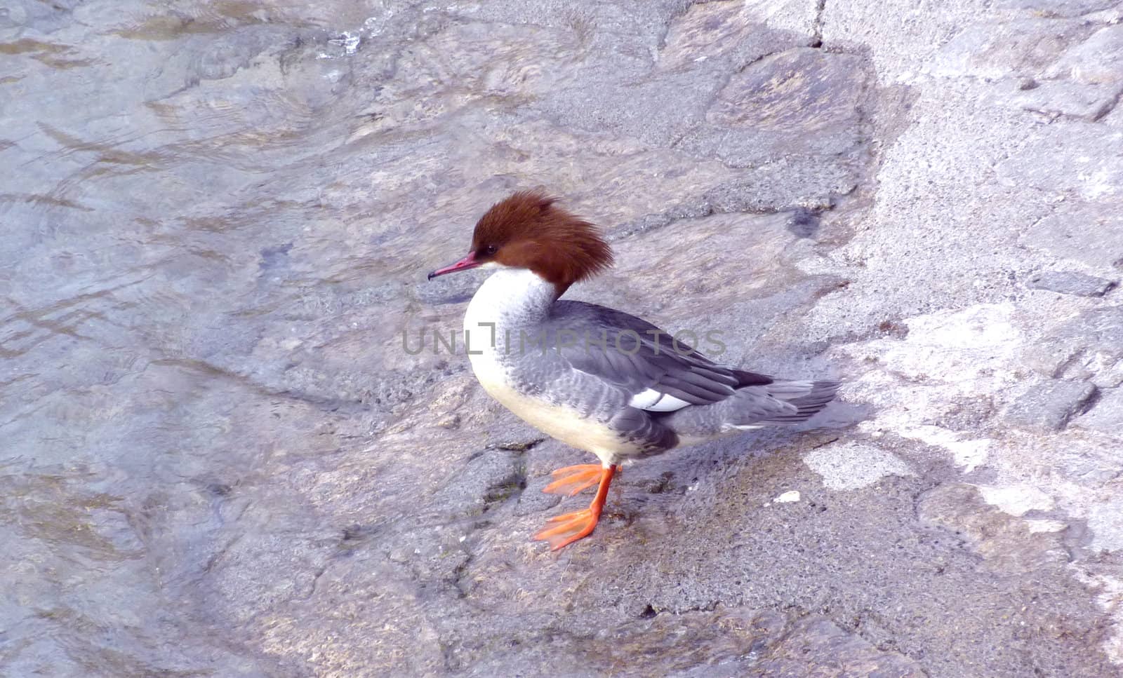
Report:
[[[531,425],[601,460],[554,471],[544,489],[573,496],[599,484],[588,509],[553,517],[535,534],[553,550],[593,532],[624,460],[804,421],[839,387],[719,365],[645,320],[560,301],[569,285],[608,268],[612,250],[596,227],[555,202],[520,191],[495,203],[476,223],[468,255],[429,274],[495,269],[464,315],[476,378]]]

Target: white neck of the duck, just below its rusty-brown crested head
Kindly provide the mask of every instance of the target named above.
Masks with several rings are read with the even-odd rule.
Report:
[[[464,314],[464,329],[472,333],[480,323],[493,322],[496,328],[527,327],[549,313],[557,291],[537,273],[527,268],[500,268],[476,290]]]

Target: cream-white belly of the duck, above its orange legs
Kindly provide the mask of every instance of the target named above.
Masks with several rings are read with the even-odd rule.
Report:
[[[511,386],[506,373],[485,356],[473,356],[472,368],[484,391],[504,407],[539,431],[566,445],[593,452],[605,462],[633,456],[639,448],[619,432],[591,416],[557,403],[520,393]]]

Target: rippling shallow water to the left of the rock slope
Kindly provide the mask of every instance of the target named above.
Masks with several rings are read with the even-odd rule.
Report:
[[[284,449],[316,425],[287,403],[346,410],[371,391],[254,354],[357,341],[346,319],[400,293],[371,284],[385,266],[369,255],[401,225],[331,198],[348,158],[367,158],[351,177],[378,164],[348,147],[374,95],[353,59],[392,15],[0,10],[0,672],[264,670],[197,585],[226,542],[300,513],[248,487],[279,456],[316,455]],[[326,318],[339,330],[309,337]]]

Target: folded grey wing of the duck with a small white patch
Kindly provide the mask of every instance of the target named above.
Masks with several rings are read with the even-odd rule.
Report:
[[[772,379],[718,365],[656,326],[583,302],[558,302],[545,339],[574,369],[618,387],[648,412],[721,402],[747,384]],[[754,381],[756,378],[756,381]]]

